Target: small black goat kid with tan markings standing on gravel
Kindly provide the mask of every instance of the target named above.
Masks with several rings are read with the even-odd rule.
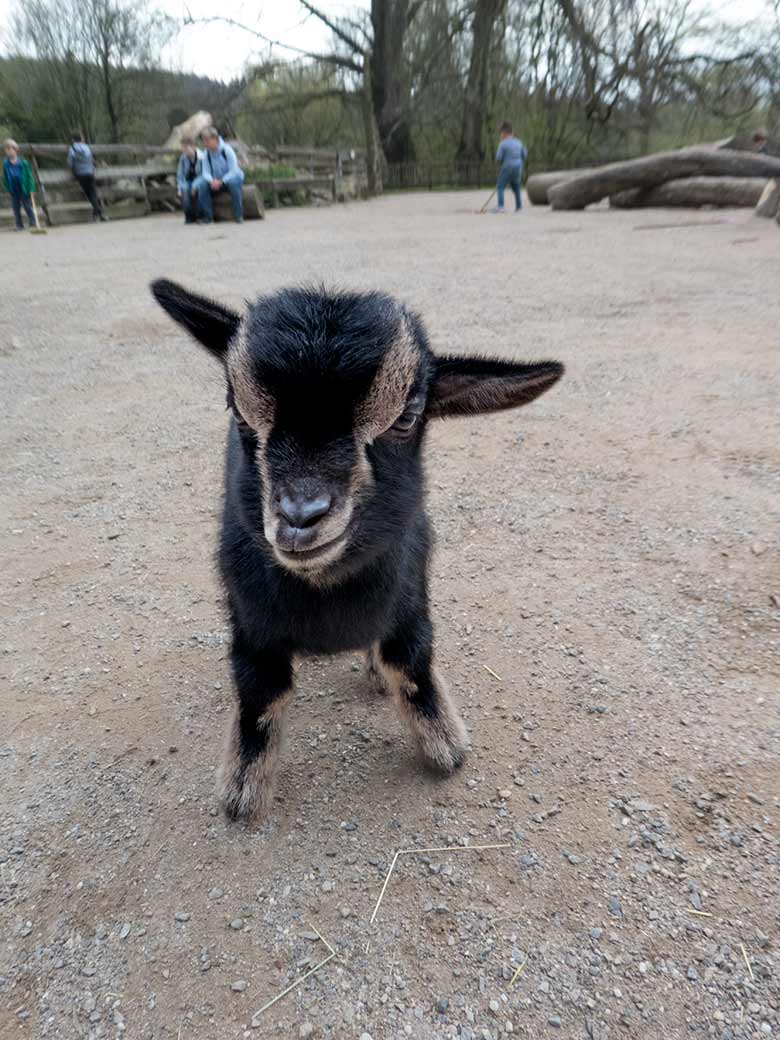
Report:
[[[365,650],[424,757],[449,773],[466,730],[434,668],[428,419],[527,405],[554,361],[438,357],[389,296],[290,289],[243,315],[168,281],[152,291],[223,364],[232,421],[219,564],[238,703],[220,771],[229,816],[272,797],[293,660]]]

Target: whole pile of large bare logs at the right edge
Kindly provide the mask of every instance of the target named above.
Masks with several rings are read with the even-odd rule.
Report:
[[[751,151],[736,138],[658,152],[589,170],[528,178],[535,205],[584,209],[609,200],[617,209],[752,207],[780,224],[780,155]]]

